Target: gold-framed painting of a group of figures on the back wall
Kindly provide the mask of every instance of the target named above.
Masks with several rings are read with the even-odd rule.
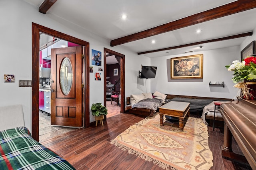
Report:
[[[203,54],[171,58],[171,79],[203,78]]]

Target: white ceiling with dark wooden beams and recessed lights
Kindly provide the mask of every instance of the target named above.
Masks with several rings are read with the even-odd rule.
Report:
[[[24,1],[147,57],[237,46],[256,28],[256,0]]]

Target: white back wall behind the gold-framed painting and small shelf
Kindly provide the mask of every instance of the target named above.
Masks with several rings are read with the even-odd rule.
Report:
[[[203,79],[170,79],[170,58],[203,54]],[[171,55],[167,57],[152,58],[151,63],[158,66],[156,78],[151,79],[151,92],[159,91],[164,94],[187,96],[202,96],[214,98],[234,98],[238,92],[232,82],[232,72],[228,72],[225,65],[240,59],[240,47],[229,47],[189,53]],[[209,82],[224,82],[221,86],[209,86]]]

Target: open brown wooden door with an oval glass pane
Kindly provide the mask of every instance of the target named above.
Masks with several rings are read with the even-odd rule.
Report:
[[[82,47],[51,51],[51,124],[82,127]]]

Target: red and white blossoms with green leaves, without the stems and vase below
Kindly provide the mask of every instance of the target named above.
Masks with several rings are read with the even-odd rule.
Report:
[[[233,61],[233,64],[226,66],[228,71],[234,71],[231,80],[234,83],[256,81],[256,57],[247,57],[244,61]]]

